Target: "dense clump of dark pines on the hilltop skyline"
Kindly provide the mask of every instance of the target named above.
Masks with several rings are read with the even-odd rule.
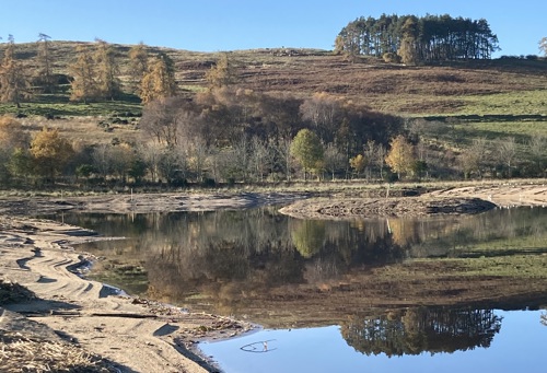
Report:
[[[382,14],[349,22],[336,37],[335,49],[351,56],[398,56],[416,63],[489,59],[499,46],[485,19]]]

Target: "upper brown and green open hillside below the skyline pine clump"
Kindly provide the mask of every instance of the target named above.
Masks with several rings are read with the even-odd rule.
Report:
[[[67,74],[77,42],[51,42],[54,69]],[[127,73],[130,46],[114,45]],[[1,46],[0,46],[1,50]],[[175,61],[185,94],[205,89],[206,71],[218,54],[148,47]],[[18,44],[16,56],[32,68],[36,44]],[[508,58],[461,61],[442,66],[407,67],[375,58],[348,61],[314,49],[254,49],[229,53],[238,84],[259,92],[306,97],[315,92],[365,104],[373,110],[405,116],[547,115],[547,60]]]

